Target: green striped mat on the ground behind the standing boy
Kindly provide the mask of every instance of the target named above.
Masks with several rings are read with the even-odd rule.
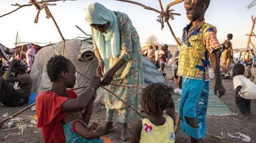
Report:
[[[180,102],[178,99],[181,98],[180,95],[174,94],[172,96],[175,103],[175,112],[179,112]],[[217,115],[217,116],[236,116],[235,113],[231,112],[228,107],[222,102],[212,91],[210,91],[208,99],[207,115]]]

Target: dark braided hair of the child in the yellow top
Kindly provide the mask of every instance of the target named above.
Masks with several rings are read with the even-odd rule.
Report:
[[[162,83],[151,84],[143,89],[141,100],[149,112],[162,114],[166,108],[170,108],[173,92],[171,86]]]

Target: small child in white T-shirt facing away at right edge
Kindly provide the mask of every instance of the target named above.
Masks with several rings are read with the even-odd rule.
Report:
[[[236,106],[244,119],[250,119],[251,102],[256,99],[256,84],[244,77],[244,65],[236,64],[233,67],[233,83],[236,94]]]

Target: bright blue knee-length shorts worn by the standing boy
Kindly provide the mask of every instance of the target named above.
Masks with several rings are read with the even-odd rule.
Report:
[[[180,101],[180,131],[195,139],[202,139],[206,133],[206,112],[209,96],[209,81],[182,78]],[[185,117],[196,118],[198,128],[188,125]]]

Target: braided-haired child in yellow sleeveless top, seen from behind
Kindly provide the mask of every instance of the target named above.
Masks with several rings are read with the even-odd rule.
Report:
[[[161,83],[144,88],[141,101],[149,117],[134,124],[131,143],[174,143],[175,107],[172,93],[172,87]]]

